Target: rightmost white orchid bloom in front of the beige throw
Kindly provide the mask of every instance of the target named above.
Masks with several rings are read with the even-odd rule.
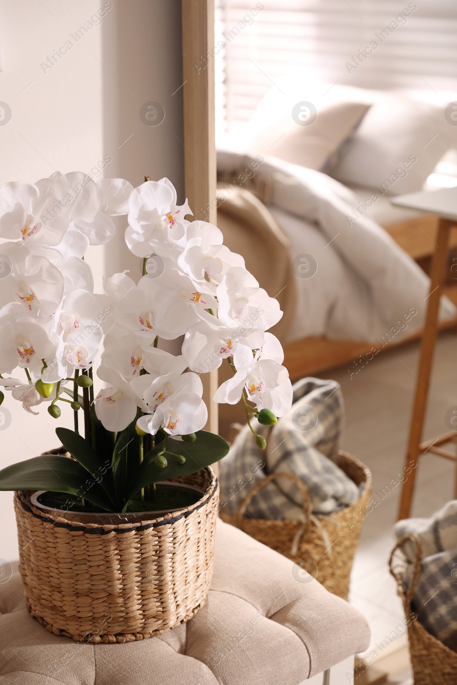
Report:
[[[219,319],[226,326],[247,325],[267,330],[280,321],[280,304],[259,288],[249,271],[234,266],[223,276],[217,286]]]

